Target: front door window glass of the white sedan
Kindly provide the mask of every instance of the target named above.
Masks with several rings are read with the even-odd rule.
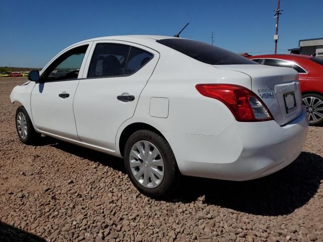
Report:
[[[40,76],[41,81],[76,79],[88,45],[82,45],[60,55]]]

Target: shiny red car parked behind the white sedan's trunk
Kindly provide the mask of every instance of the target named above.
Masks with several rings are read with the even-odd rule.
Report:
[[[323,124],[323,59],[301,54],[264,54],[248,57],[267,66],[293,68],[299,82],[309,124]]]

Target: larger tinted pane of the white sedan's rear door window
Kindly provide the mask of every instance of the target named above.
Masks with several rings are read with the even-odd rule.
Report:
[[[123,76],[130,46],[122,44],[96,44],[87,77]]]

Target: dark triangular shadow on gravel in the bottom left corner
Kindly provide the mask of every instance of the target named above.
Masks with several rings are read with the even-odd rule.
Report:
[[[22,229],[0,221],[0,241],[2,242],[45,242],[46,240]]]

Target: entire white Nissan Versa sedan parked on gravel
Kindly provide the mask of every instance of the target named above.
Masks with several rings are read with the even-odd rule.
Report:
[[[50,75],[69,70],[64,76]],[[181,175],[249,180],[293,162],[307,134],[298,73],[200,41],[112,36],[73,44],[16,86],[16,127],[123,157],[165,196]]]

